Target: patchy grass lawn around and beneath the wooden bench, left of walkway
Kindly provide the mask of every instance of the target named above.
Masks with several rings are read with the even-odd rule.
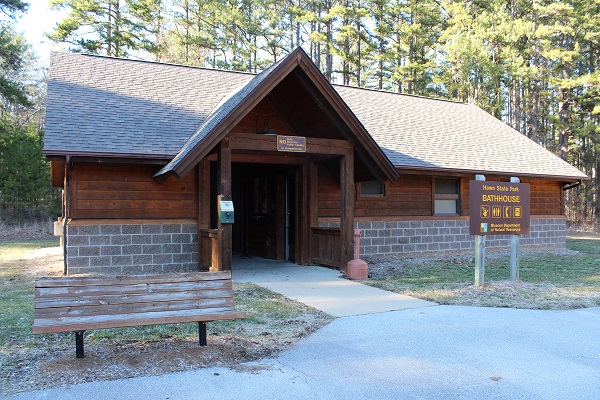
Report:
[[[58,241],[0,242],[0,396],[95,380],[160,375],[206,366],[240,368],[274,356],[333,318],[253,284],[234,282],[245,320],[99,329],[75,358],[72,333],[33,335],[36,276],[62,275]]]

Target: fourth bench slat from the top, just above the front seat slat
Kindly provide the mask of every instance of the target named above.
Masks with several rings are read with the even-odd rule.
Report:
[[[144,313],[149,311],[177,311],[177,310],[199,310],[203,308],[233,308],[234,301],[231,297],[214,299],[165,299],[163,301],[152,301],[147,303],[129,304],[99,304],[96,306],[77,307],[54,307],[40,308],[35,310],[35,318],[63,318],[63,317],[85,317],[95,315],[115,315],[128,313]]]

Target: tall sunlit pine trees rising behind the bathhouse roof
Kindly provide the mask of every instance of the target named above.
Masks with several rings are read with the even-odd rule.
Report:
[[[600,222],[600,0],[51,2],[76,50],[259,72],[302,46],[333,83],[474,103],[592,177],[567,217]]]

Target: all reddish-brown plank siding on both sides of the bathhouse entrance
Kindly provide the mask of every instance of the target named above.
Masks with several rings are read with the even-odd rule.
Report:
[[[61,165],[62,164],[62,165]],[[318,169],[318,216],[340,216],[339,166],[316,163]],[[56,163],[57,186],[63,163]],[[160,184],[152,178],[154,165],[75,163],[71,173],[70,215],[73,219],[197,219],[197,171],[181,180]],[[469,215],[469,180],[461,177],[460,210]],[[490,177],[490,181],[500,178]],[[506,180],[506,179],[502,179]],[[386,182],[384,196],[360,195],[356,185],[355,217],[401,218],[433,216],[433,177],[403,174]],[[563,215],[561,183],[523,180],[531,185],[531,215]],[[266,240],[266,239],[265,239]]]

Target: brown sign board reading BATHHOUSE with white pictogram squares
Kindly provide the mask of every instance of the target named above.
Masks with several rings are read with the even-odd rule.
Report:
[[[470,181],[471,235],[529,233],[529,184]]]

